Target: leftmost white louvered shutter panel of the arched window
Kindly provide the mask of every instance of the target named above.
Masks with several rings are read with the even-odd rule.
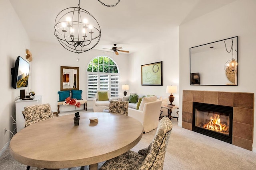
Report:
[[[98,75],[88,74],[88,98],[95,98],[98,90]]]

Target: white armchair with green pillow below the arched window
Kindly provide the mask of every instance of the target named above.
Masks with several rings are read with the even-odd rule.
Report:
[[[96,98],[93,100],[93,112],[103,112],[110,104],[110,94],[108,90],[97,90]]]

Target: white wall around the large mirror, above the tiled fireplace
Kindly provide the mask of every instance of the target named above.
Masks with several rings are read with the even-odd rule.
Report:
[[[180,96],[182,96],[182,90],[256,93],[254,76],[256,73],[255,9],[255,0],[237,0],[180,25]],[[190,86],[189,48],[234,36],[238,36],[238,86]],[[182,97],[180,97],[179,103],[182,117]],[[254,120],[255,118],[256,113],[254,112]],[[255,123],[256,121],[254,121],[254,143],[252,145],[254,152],[256,151]],[[179,126],[181,124],[182,121],[179,121]]]

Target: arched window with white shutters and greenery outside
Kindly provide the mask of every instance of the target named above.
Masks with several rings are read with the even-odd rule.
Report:
[[[87,100],[95,98],[97,90],[109,90],[112,98],[118,97],[119,69],[106,56],[95,57],[87,66]]]

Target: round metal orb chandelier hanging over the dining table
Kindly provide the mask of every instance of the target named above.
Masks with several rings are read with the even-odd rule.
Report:
[[[54,35],[68,51],[83,53],[93,49],[100,41],[98,21],[86,10],[77,7],[62,10],[55,19]]]

